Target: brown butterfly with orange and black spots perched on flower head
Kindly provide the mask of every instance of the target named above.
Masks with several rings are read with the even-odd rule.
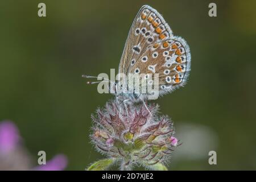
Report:
[[[157,78],[156,88],[159,90],[159,96],[163,96],[183,86],[188,80],[190,69],[191,54],[187,42],[180,36],[173,35],[170,26],[158,11],[148,5],[142,6],[131,25],[118,73],[126,76],[143,74],[142,80],[146,80],[151,85]],[[150,77],[151,80],[148,80],[148,75],[153,75]],[[83,77],[92,78],[93,76],[83,75]],[[101,77],[96,78],[101,79]],[[107,78],[102,78],[102,81],[112,82]],[[122,84],[121,81],[117,81],[114,88],[120,85],[122,88]],[[129,84],[125,85],[129,90],[127,86]],[[139,86],[144,87],[141,82]],[[134,90],[130,93],[115,93],[116,97],[122,97],[123,101],[131,102],[144,102],[148,100],[150,94]]]

